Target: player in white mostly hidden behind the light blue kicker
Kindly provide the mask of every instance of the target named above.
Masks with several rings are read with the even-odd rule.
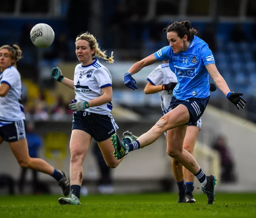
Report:
[[[162,114],[165,115],[168,112],[168,107],[172,99],[172,92],[177,85],[177,77],[169,67],[169,61],[163,61],[164,64],[160,64],[148,75],[148,83],[145,86],[145,94],[153,94],[159,92],[161,98]],[[210,84],[210,91],[215,91],[215,84]],[[186,136],[183,142],[183,149],[193,155],[193,150],[196,144],[198,133],[201,129],[201,117],[195,123],[188,123]],[[166,136],[166,132],[164,132]],[[182,166],[178,161],[172,158],[172,171],[174,179],[179,188],[178,203],[194,203],[196,202],[193,197],[194,190],[194,175]],[[184,184],[185,179],[185,184]]]

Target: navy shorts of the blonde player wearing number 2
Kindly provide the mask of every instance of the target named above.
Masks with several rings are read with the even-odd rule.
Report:
[[[118,129],[111,114],[95,114],[86,111],[73,113],[73,129],[79,129],[90,134],[97,142],[105,141]]]

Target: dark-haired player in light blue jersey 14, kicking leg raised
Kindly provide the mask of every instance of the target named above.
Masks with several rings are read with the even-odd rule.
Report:
[[[208,204],[213,204],[215,176],[206,176],[194,157],[183,149],[187,124],[197,122],[206,108],[210,98],[208,73],[237,109],[244,108],[246,100],[241,97],[242,93],[229,90],[215,66],[214,57],[207,43],[195,36],[197,31],[190,26],[189,21],[174,22],[169,25],[165,30],[170,45],[135,63],[124,74],[124,84],[133,90],[138,89],[132,75],[143,67],[168,59],[169,66],[178,81],[173,90],[169,112],[134,142],[125,145],[120,142],[116,134],[113,135],[112,141],[114,155],[120,159],[132,150],[152,144],[167,131],[167,154],[195,175],[207,195]]]

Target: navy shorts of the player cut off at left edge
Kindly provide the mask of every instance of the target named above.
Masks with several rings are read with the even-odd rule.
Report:
[[[0,137],[6,142],[16,142],[26,138],[26,122],[19,120],[15,122],[0,122]],[[8,123],[8,124],[6,124]]]

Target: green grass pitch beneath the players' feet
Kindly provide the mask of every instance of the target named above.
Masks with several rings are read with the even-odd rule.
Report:
[[[256,194],[217,194],[214,205],[203,194],[195,204],[176,203],[177,194],[90,195],[80,206],[59,205],[58,197],[0,196],[0,217],[256,217]]]

